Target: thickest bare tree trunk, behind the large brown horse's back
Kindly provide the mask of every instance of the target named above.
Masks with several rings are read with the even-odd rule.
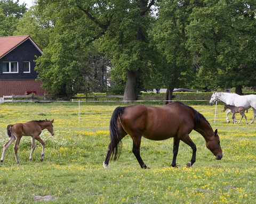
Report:
[[[127,82],[125,84],[123,101],[136,100],[136,86],[139,77],[140,71],[127,70]]]

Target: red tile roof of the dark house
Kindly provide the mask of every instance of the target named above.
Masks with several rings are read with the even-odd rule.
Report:
[[[43,53],[43,50],[35,43],[35,41],[30,36],[0,37],[0,58],[11,52],[11,50],[13,50],[15,47],[18,47],[27,39],[29,39],[31,43],[35,45],[39,52]]]

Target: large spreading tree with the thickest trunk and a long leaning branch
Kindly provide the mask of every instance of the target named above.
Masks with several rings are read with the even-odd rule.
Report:
[[[79,44],[84,48],[85,45],[89,46],[90,42],[98,40],[102,50],[111,58],[114,67],[113,78],[122,77],[126,81],[124,100],[136,99],[136,90],[143,86],[141,78],[145,77],[154,66],[153,45],[149,44],[147,33],[151,26],[150,9],[154,5],[154,0],[54,2],[39,0],[38,5],[41,13],[53,19],[54,30],[63,29],[73,33],[72,24],[83,21],[84,24],[79,24],[77,27],[81,31],[76,31],[77,35],[74,37],[79,39]],[[69,42],[71,43],[72,40]]]

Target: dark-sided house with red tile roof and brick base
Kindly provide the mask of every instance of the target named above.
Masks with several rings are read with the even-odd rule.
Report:
[[[30,36],[0,37],[0,97],[46,94],[42,81],[35,81],[34,60],[42,54]]]

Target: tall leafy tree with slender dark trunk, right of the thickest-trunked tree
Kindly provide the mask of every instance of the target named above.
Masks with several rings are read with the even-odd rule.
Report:
[[[190,1],[162,1],[152,35],[162,50],[158,79],[167,87],[165,100],[172,100],[174,88],[186,88],[193,72],[193,54],[186,48],[186,26],[192,12]]]

